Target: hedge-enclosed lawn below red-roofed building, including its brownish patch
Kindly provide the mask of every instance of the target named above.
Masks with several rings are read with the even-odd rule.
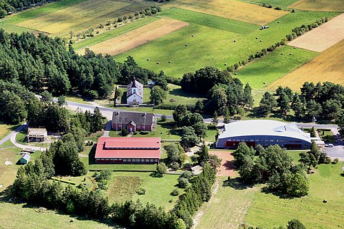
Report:
[[[179,175],[165,174],[163,177],[153,177],[151,173],[142,172],[114,172],[112,174],[114,179],[113,182],[111,182],[112,184],[110,183],[108,185],[110,188],[106,193],[113,195],[110,197],[113,201],[117,199],[118,201],[124,201],[125,199],[140,199],[142,204],[147,204],[147,202],[149,202],[156,206],[162,206],[166,210],[170,210],[178,199],[178,196],[173,197],[170,193],[175,189],[175,185],[178,184],[177,179]],[[127,182],[125,183],[127,187],[116,184],[118,181]],[[133,184],[130,184],[129,181],[133,181]],[[114,185],[114,187],[111,187],[111,185]],[[123,193],[123,190],[120,190],[122,187],[127,189],[128,193]],[[136,194],[134,190],[138,187],[146,189],[146,193],[144,195]],[[115,193],[118,193],[118,196]],[[120,195],[120,193],[122,195]],[[180,193],[182,194],[182,190]],[[171,203],[169,203],[170,199],[172,200]]]

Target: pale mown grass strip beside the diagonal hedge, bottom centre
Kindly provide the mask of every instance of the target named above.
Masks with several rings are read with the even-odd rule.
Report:
[[[239,228],[259,188],[235,184],[236,179],[231,182],[225,182],[226,177],[217,179],[219,189],[213,195],[210,206],[200,208],[204,213],[197,228]]]

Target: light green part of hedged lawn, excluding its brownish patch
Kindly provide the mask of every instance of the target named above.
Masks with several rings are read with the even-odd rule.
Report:
[[[175,189],[175,185],[178,184],[179,175],[167,175],[163,177],[153,177],[151,173],[136,173],[136,172],[116,172],[114,176],[126,176],[126,177],[140,177],[142,184],[140,188],[146,189],[144,195],[134,194],[131,199],[140,199],[142,204],[155,204],[156,206],[162,206],[165,210],[170,210],[175,205],[178,196],[173,197],[170,193]],[[182,192],[180,192],[182,194]],[[128,196],[129,197],[129,196]],[[116,198],[116,197],[114,197]],[[169,203],[169,200],[172,202]]]

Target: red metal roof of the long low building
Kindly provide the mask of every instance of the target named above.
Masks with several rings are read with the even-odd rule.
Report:
[[[161,138],[99,138],[95,158],[160,158]]]

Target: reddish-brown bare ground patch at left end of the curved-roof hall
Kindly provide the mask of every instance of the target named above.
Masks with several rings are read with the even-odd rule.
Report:
[[[222,159],[222,165],[217,168],[217,176],[218,177],[234,177],[234,164],[233,160],[234,157],[230,151],[210,151],[210,154],[217,155],[217,157]]]

